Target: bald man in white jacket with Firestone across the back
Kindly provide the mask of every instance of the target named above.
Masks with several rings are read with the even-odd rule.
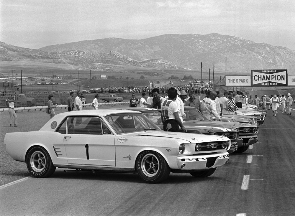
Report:
[[[217,93],[215,91],[210,91],[208,93],[208,98],[206,97],[203,99],[201,109],[204,116],[206,116],[209,120],[214,120],[214,118],[217,118],[218,121],[221,121],[220,116],[216,110],[216,103],[214,101],[216,96]]]

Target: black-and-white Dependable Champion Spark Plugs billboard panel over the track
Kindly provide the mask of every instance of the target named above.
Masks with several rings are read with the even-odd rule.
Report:
[[[286,69],[251,70],[251,86],[288,86]]]

